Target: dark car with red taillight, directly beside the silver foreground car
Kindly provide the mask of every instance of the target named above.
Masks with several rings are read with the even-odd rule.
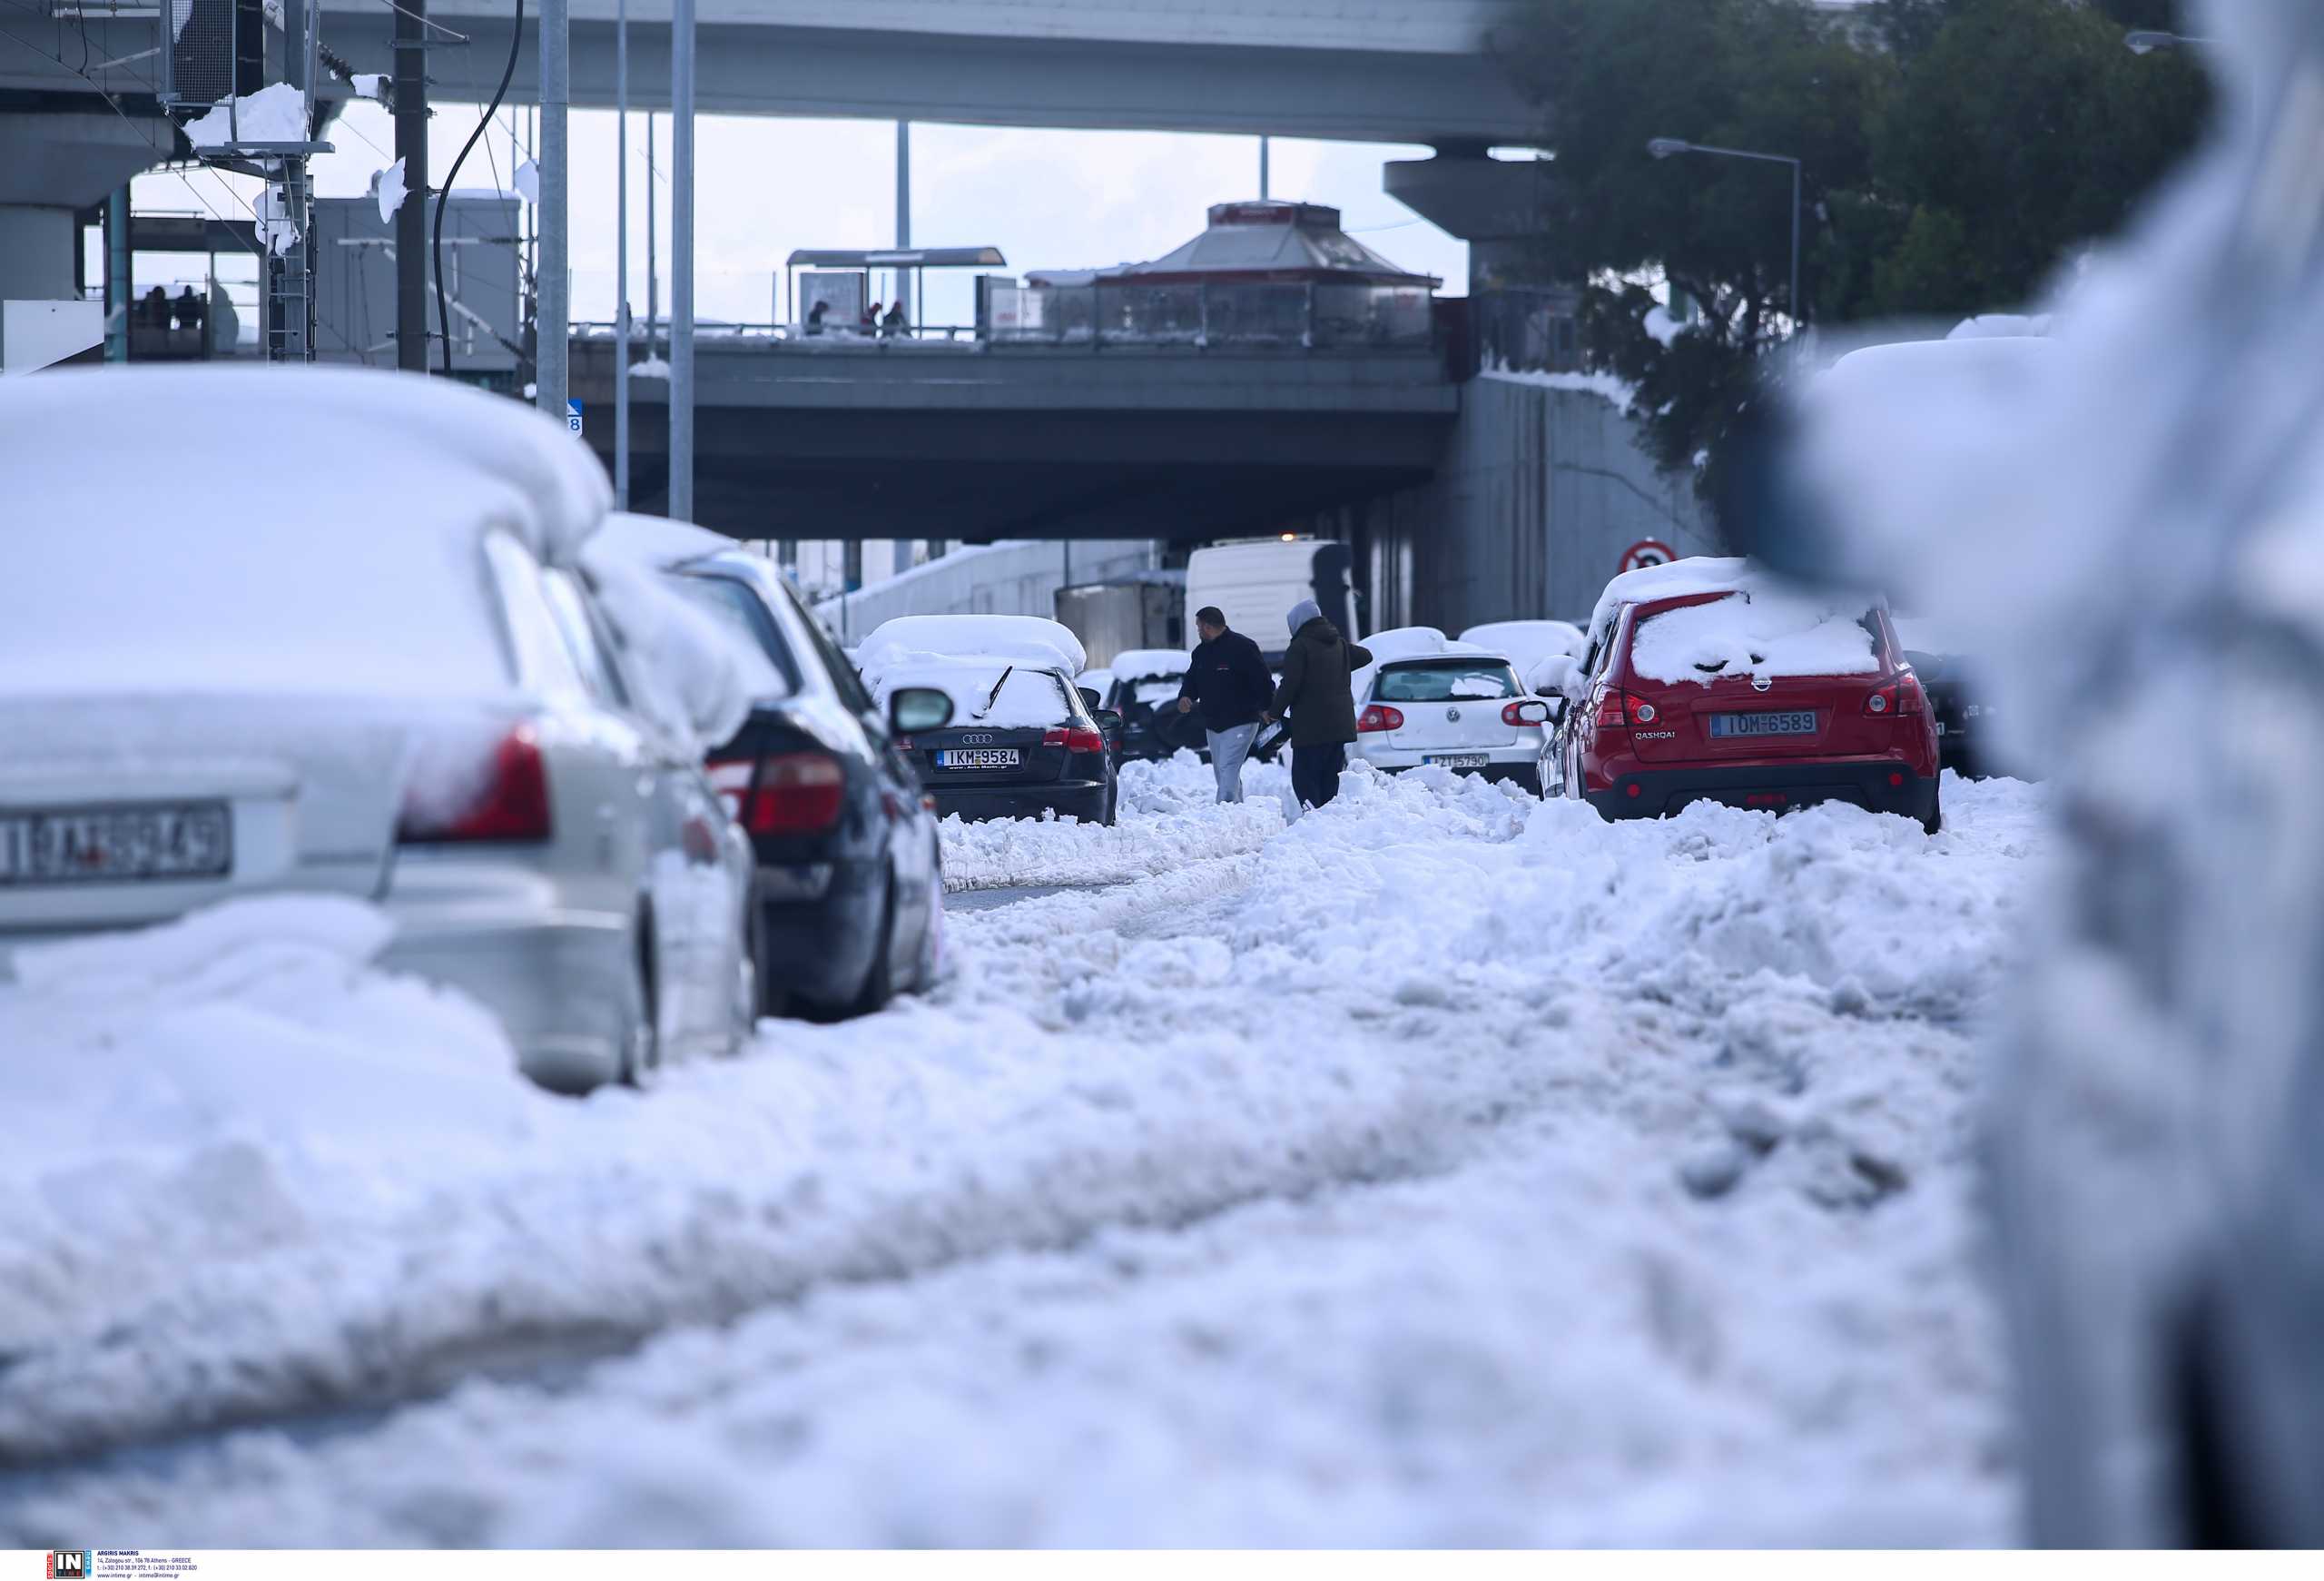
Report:
[[[621,542],[732,639],[751,714],[709,774],[758,858],[751,935],[760,1014],[844,1016],[937,981],[944,856],[932,802],[892,751],[944,725],[941,691],[871,700],[855,665],[765,556],[655,516],[616,514]]]

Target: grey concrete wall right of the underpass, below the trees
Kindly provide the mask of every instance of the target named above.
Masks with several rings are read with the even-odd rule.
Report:
[[[1629,416],[1571,384],[1471,379],[1436,477],[1350,516],[1369,628],[1580,621],[1641,539],[1720,553],[1692,479],[1659,472]]]

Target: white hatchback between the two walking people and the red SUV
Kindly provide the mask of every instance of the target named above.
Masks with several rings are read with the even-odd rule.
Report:
[[[1373,663],[1350,677],[1355,746],[1380,770],[1448,767],[1541,795],[1550,704],[1527,695],[1506,653],[1434,625],[1364,637]]]

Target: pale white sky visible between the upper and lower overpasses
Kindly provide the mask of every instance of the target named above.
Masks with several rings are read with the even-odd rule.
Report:
[[[432,174],[442,184],[476,126],[474,105],[437,105]],[[895,242],[895,123],[702,116],[695,198],[695,302],[702,319],[765,323],[795,246],[888,246]],[[509,186],[509,112],[460,170],[460,188]],[[614,114],[572,112],[574,319],[614,316]],[[330,128],[337,153],[314,165],[316,193],[358,198],[390,160],[393,123],[379,105],[353,105]],[[488,158],[490,149],[490,158]],[[669,116],[655,149],[669,160]],[[1006,274],[1155,258],[1204,223],[1213,202],[1255,198],[1255,137],[1181,133],[1057,133],[981,126],[916,126],[911,135],[913,242],[999,246]],[[1380,191],[1390,158],[1425,158],[1394,144],[1276,140],[1271,191],[1343,209],[1360,242],[1408,270],[1466,291],[1469,249]],[[137,177],[139,209],[207,207],[246,216],[256,184],[216,172]],[[646,119],[630,116],[630,302],[646,312]],[[239,195],[239,198],[237,198]],[[669,312],[669,186],[655,181],[662,246],[662,312]],[[139,258],[137,288],[198,279],[200,258]],[[218,258],[223,279],[256,279],[256,260]],[[95,279],[95,274],[91,274]],[[890,295],[874,279],[874,295]],[[246,293],[235,293],[246,300]],[[932,323],[967,323],[967,274],[930,277]]]

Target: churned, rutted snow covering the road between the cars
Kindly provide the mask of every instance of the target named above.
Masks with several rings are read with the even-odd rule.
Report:
[[[1076,888],[646,1095],[525,1088],[358,907],[0,988],[0,1546],[2008,1541],[2040,793],[1283,779],[953,825]]]

